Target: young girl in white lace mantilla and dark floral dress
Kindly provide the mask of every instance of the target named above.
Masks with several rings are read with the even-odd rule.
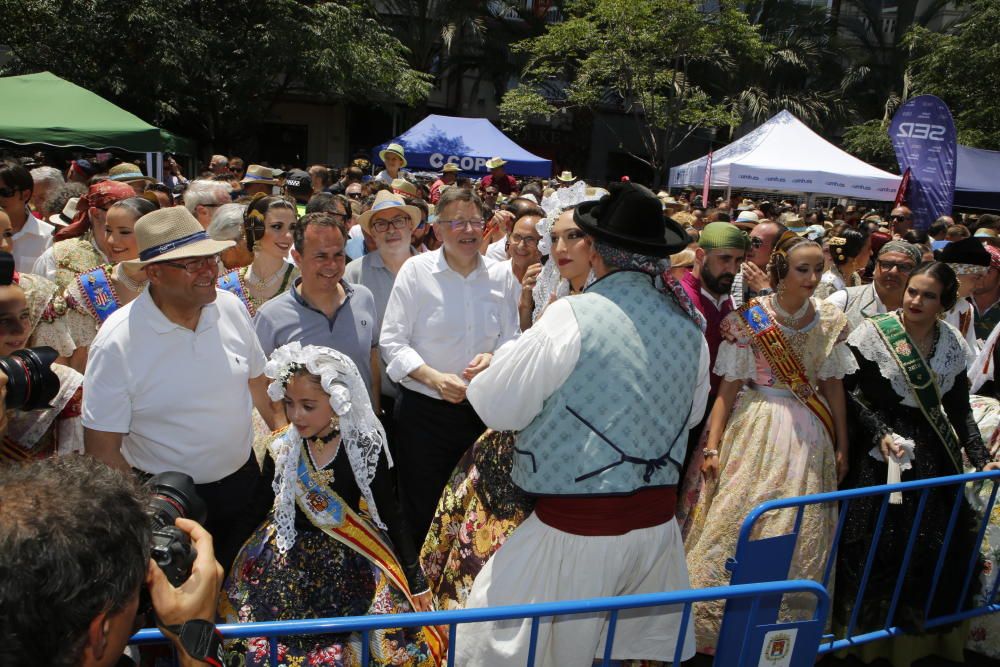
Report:
[[[272,510],[233,563],[221,614],[253,622],[430,609],[385,432],[354,363],[290,343],[265,373],[291,425],[268,446],[273,496],[262,500],[273,497]],[[437,665],[443,652],[434,628],[373,630],[369,642],[374,665]],[[242,648],[247,665],[269,664],[267,639]],[[282,665],[359,665],[361,651],[358,633],[287,637],[278,647]]]

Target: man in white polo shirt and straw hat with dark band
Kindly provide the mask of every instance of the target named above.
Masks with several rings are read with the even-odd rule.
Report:
[[[264,353],[246,308],[216,290],[218,253],[187,209],[135,226],[149,288],[112,313],[90,346],[84,381],[87,453],[139,473],[194,478],[205,527],[228,568],[262,518],[248,512],[260,480],[251,453],[254,406],[273,426]]]

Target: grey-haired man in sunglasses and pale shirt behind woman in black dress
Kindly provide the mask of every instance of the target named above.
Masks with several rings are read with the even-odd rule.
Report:
[[[878,252],[874,281],[834,292],[827,301],[844,311],[853,329],[865,318],[894,311],[903,305],[906,280],[920,261],[920,249],[915,245],[890,241]]]

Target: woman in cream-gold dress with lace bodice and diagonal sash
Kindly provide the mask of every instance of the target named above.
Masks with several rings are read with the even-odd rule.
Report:
[[[812,298],[823,251],[786,232],[768,271],[776,293],[751,300],[722,322],[715,372],[723,382],[709,417],[706,484],[685,541],[693,588],[729,583],[726,559],[754,507],[834,491],[847,472],[841,378],[857,366],[844,345],[846,317]],[[790,579],[822,580],[836,522],[836,507],[805,510]],[[793,532],[794,524],[794,512],[769,513],[753,538]],[[812,613],[811,602],[795,596],[786,596],[782,608],[786,617]],[[722,602],[695,605],[699,652],[714,653],[722,611]]]

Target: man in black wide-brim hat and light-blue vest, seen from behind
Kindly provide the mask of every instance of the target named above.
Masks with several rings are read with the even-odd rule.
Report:
[[[597,280],[552,303],[466,394],[487,426],[519,431],[511,477],[537,497],[477,576],[469,607],[689,587],[674,505],[709,357],[700,314],[663,282],[666,258],[689,238],[633,183],[580,205],[574,220]],[[662,660],[680,639],[690,657],[694,637],[690,626],[679,636],[680,620],[662,609],[622,614],[612,658]],[[543,619],[535,664],[590,664],[606,629],[605,614]],[[530,636],[528,619],[469,626],[457,663],[524,664]]]

